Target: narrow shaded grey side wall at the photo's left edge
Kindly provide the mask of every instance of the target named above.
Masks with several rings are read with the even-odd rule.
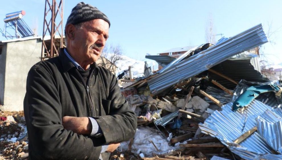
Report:
[[[6,52],[7,45],[1,45],[2,52],[0,55],[0,105],[4,104],[4,87],[5,87],[5,69],[6,69]]]

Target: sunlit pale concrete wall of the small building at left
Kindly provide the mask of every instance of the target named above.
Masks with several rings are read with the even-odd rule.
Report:
[[[23,110],[26,77],[30,68],[40,61],[40,39],[7,43],[5,95],[1,110]]]

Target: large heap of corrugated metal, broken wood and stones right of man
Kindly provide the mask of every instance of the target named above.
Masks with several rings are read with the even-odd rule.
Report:
[[[150,160],[282,159],[282,82],[263,77],[253,49],[266,42],[260,24],[177,59],[147,56],[164,68],[124,87],[138,130],[118,151]]]

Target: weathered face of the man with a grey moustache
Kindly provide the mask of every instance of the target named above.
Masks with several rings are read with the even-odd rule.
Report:
[[[75,29],[72,46],[78,51],[81,61],[91,64],[100,57],[109,37],[109,23],[103,19],[94,19]]]

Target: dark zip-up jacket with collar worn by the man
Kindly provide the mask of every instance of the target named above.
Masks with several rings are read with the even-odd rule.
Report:
[[[121,94],[116,77],[96,63],[91,67],[89,84],[85,84],[61,51],[58,57],[30,69],[24,98],[29,159],[96,160],[101,145],[134,136],[137,117]],[[64,129],[64,116],[94,117],[103,136],[95,138]],[[109,158],[107,153],[102,156]]]

